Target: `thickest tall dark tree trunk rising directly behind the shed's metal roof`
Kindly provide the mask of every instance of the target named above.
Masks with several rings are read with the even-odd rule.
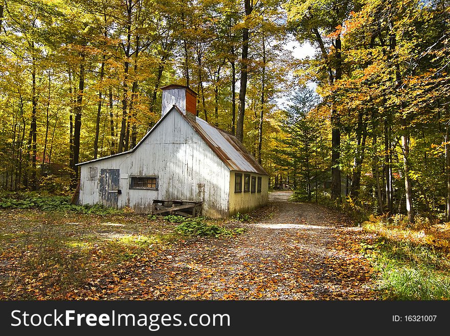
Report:
[[[251,0],[244,0],[245,15],[252,13],[253,7]],[[249,58],[249,28],[242,28],[242,56],[241,56],[241,80],[239,88],[239,105],[236,122],[236,138],[242,142],[244,139],[244,114],[245,114],[245,95],[247,92],[247,70]]]

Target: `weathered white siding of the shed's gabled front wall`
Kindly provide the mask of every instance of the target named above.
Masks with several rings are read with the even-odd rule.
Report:
[[[119,208],[147,213],[153,199],[196,200],[206,216],[228,216],[230,170],[175,109],[135,151],[81,165],[81,204],[102,203],[101,169],[120,169]],[[131,175],[158,175],[158,190],[130,189]]]

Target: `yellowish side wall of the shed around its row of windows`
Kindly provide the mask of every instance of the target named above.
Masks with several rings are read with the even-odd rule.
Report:
[[[242,174],[242,192],[234,192],[235,173]],[[255,176],[258,183],[258,177],[261,177],[261,192],[244,192],[243,177],[244,174],[250,174]],[[235,215],[236,213],[245,213],[262,205],[267,204],[268,195],[268,175],[260,175],[256,173],[245,173],[240,171],[230,172],[230,211],[229,215]]]

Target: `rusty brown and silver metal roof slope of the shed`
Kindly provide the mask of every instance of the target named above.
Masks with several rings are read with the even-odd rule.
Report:
[[[230,170],[268,175],[235,136],[201,118],[196,117],[194,121],[186,117],[177,106],[174,107]]]

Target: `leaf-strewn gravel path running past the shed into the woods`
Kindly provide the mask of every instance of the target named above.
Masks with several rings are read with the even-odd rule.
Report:
[[[234,238],[195,238],[137,260],[107,299],[374,299],[361,228],[319,205],[288,203],[290,194],[270,193]]]

